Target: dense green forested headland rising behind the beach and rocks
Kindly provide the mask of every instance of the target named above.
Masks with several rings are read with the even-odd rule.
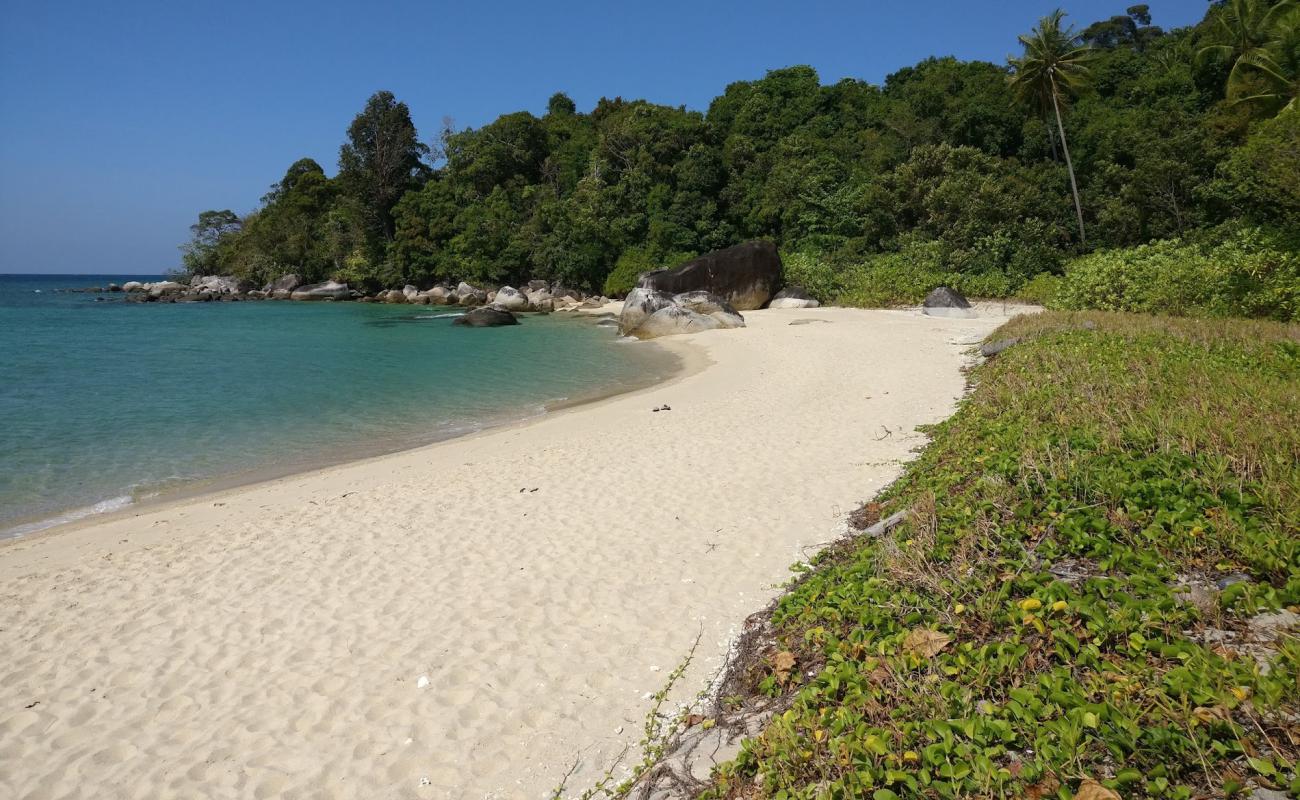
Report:
[[[1027,21],[1027,27],[1034,21]],[[377,289],[640,272],[748,239],[824,302],[940,284],[1063,307],[1300,315],[1300,4],[1061,13],[1008,64],[931,57],[883,85],[810,66],[707,111],[623,98],[422,139],[376,92],[337,173],[289,167],[247,215],[207,211],[185,269]]]

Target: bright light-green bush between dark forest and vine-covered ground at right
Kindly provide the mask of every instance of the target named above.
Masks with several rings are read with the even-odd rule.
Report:
[[[1300,247],[1277,229],[1232,225],[1071,261],[1058,308],[1300,319]]]

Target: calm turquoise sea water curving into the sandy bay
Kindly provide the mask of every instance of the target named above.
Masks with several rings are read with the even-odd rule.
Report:
[[[0,537],[448,438],[675,368],[563,313],[468,329],[438,306],[56,291],[133,277],[157,280],[0,276]]]

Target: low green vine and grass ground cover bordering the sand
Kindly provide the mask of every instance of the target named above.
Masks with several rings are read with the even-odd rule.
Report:
[[[861,515],[909,520],[774,605],[723,705],[783,710],[703,796],[1300,792],[1300,327],[1002,337]]]

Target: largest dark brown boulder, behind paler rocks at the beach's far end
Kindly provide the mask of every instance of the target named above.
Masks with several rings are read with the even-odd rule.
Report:
[[[762,308],[781,282],[781,256],[771,242],[746,242],[641,276],[637,286],[670,294],[708,291],[740,311]]]

